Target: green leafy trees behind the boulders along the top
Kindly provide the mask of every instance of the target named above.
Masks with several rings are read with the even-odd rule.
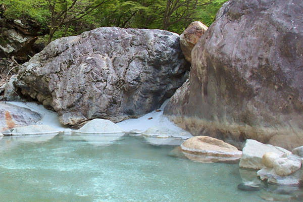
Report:
[[[77,35],[102,26],[167,29],[181,33],[192,21],[210,26],[227,0],[3,0],[7,19],[47,26],[45,38]],[[50,41],[49,40],[49,41]],[[48,42],[49,42],[48,41]]]

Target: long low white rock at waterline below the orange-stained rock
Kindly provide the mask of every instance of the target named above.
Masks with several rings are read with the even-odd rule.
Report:
[[[59,133],[58,130],[47,125],[31,125],[23,127],[15,127],[2,132],[4,135],[34,135],[34,134],[54,134]]]

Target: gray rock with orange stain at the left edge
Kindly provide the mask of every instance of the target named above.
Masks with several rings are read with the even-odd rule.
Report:
[[[0,131],[19,126],[34,125],[42,115],[29,109],[0,102]]]

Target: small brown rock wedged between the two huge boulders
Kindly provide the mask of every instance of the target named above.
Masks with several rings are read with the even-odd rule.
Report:
[[[206,32],[208,27],[199,22],[194,21],[180,35],[180,45],[185,59],[191,61],[191,51],[193,46],[198,42],[199,38]]]

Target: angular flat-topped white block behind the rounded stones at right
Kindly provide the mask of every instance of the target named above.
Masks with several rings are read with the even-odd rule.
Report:
[[[241,168],[262,169],[262,157],[265,153],[273,152],[280,156],[291,154],[290,151],[270,144],[263,144],[256,140],[247,139],[242,150],[239,166]]]

